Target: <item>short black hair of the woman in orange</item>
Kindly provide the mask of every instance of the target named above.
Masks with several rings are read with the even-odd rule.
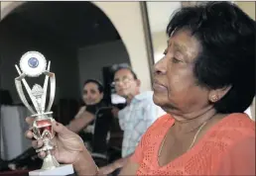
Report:
[[[235,4],[209,2],[180,9],[167,27],[192,32],[202,46],[193,73],[208,89],[232,86],[214,104],[218,113],[241,113],[255,96],[255,21]]]

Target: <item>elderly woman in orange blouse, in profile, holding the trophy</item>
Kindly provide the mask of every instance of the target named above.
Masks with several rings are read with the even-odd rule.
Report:
[[[153,86],[154,102],[168,114],[144,134],[120,175],[255,175],[255,123],[243,114],[255,95],[255,31],[229,2],[174,15]],[[59,161],[78,175],[101,174],[76,134],[53,127]]]

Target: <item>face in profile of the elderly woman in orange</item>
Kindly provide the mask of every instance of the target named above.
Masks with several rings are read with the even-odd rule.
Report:
[[[154,68],[154,102],[166,112],[181,116],[209,106],[209,91],[196,85],[193,65],[200,52],[199,42],[186,30],[169,39],[165,56]]]

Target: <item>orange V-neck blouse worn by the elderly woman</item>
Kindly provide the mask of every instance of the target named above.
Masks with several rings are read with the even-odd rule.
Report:
[[[191,150],[161,167],[158,151],[174,122],[165,115],[143,135],[131,157],[140,165],[137,175],[255,175],[255,122],[246,114],[223,118]]]

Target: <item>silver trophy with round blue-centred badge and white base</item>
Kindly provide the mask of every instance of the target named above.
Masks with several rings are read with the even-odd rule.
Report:
[[[32,124],[33,136],[39,140],[43,140],[43,146],[37,149],[37,152],[45,151],[46,157],[44,158],[43,166],[39,170],[30,172],[29,174],[39,175],[68,175],[73,173],[71,164],[61,165],[52,155],[51,150],[55,149],[55,145],[51,142],[55,136],[55,132],[52,129],[52,123],[55,121],[53,118],[53,112],[51,108],[55,99],[56,92],[56,77],[54,72],[50,72],[51,61],[48,62],[45,56],[38,51],[28,51],[22,55],[20,59],[20,68],[15,65],[19,77],[15,78],[15,85],[23,104],[31,112],[31,116],[35,118]],[[25,77],[38,77],[45,75],[44,87],[39,84],[35,84],[31,89],[27,83]],[[49,81],[50,79],[50,81]],[[50,82],[50,98],[49,104],[46,108],[47,89]],[[29,104],[23,91],[22,83],[29,95],[31,104]]]

